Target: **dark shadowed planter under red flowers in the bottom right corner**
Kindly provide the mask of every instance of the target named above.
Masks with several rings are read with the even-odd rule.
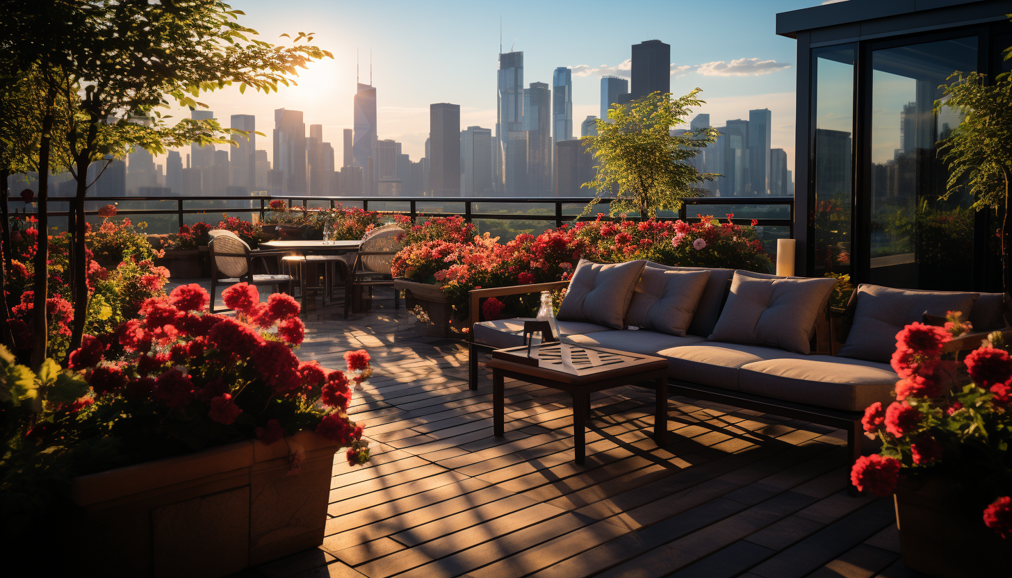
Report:
[[[963,503],[940,477],[901,480],[894,496],[903,563],[936,578],[1008,576],[1012,540],[984,525],[983,510]]]

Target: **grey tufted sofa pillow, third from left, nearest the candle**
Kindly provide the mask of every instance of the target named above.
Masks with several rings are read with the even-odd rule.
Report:
[[[808,355],[819,313],[836,279],[776,277],[735,271],[710,341],[755,343]]]

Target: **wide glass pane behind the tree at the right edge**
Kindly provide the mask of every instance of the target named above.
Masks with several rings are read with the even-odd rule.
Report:
[[[923,43],[872,52],[871,239],[873,283],[957,288],[954,271],[973,262],[974,213],[965,191],[939,200],[948,170],[938,141],[959,123],[934,113],[938,86],[953,71],[977,68],[977,38]]]

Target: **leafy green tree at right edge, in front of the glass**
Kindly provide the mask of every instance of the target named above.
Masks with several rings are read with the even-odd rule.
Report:
[[[1012,57],[1012,49],[1005,51]],[[1012,303],[1012,274],[1009,270],[1010,238],[1009,181],[1012,180],[1012,75],[999,75],[994,84],[983,74],[954,73],[951,84],[942,87],[935,113],[951,107],[963,117],[949,138],[941,142],[938,154],[949,164],[947,197],[956,189],[969,187],[977,197],[974,208],[990,209],[998,217],[998,237],[1002,251],[1002,290],[1006,307]]]

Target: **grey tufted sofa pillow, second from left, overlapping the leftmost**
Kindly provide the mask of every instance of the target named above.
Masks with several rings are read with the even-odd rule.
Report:
[[[648,264],[632,294],[625,325],[683,337],[708,278],[708,270],[659,269]]]

